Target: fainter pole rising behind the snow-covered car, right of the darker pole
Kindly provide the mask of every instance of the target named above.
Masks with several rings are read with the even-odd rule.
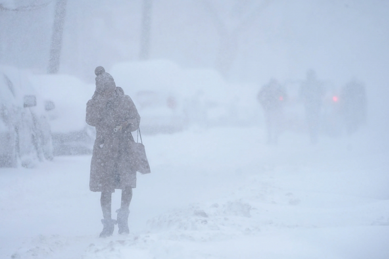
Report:
[[[152,0],[143,0],[141,23],[141,51],[139,53],[139,59],[141,60],[147,60],[150,55],[151,7]]]

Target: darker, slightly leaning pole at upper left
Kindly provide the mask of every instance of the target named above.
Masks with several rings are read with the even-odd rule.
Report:
[[[55,74],[59,69],[61,56],[62,35],[64,30],[67,0],[57,0],[55,3],[55,15],[53,24],[53,35],[50,47],[50,59],[48,73]]]

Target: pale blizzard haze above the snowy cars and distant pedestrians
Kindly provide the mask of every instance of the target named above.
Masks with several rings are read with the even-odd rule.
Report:
[[[265,84],[365,82],[369,124],[388,128],[389,3],[385,0],[150,0],[146,59],[212,68],[226,80]],[[55,1],[1,1],[0,62],[45,73]],[[93,69],[141,59],[141,0],[68,0],[59,73],[93,83]],[[37,6],[28,11],[7,11]],[[144,59],[144,58],[143,58]],[[185,87],[185,86],[183,86]],[[377,129],[376,126],[372,128]]]

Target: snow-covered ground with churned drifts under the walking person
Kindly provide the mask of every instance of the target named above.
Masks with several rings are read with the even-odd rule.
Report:
[[[0,258],[389,258],[388,152],[362,133],[317,146],[264,137],[257,127],[144,136],[152,173],[138,175],[130,234],[106,239],[90,156],[0,169]]]

